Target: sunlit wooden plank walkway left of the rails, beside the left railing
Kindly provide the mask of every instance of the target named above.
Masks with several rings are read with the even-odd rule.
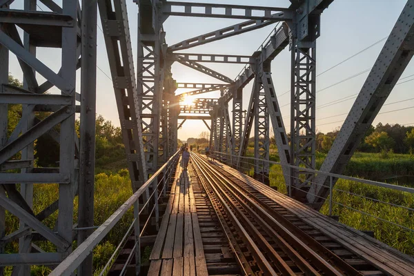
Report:
[[[193,186],[181,162],[150,255],[148,276],[207,276]]]

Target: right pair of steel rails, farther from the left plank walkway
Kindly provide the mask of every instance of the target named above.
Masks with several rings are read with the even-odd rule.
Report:
[[[328,250],[322,246],[322,244],[315,241],[315,239],[311,236],[304,233],[302,229],[288,221],[288,219],[286,219],[283,215],[273,210],[273,208],[264,203],[264,201],[257,198],[253,195],[253,193],[250,193],[246,190],[246,188],[239,185],[237,181],[240,181],[240,179],[237,179],[225,170],[223,170],[224,172],[221,172],[221,168],[214,168],[204,159],[201,159],[201,157],[196,158],[206,164],[206,168],[211,172],[210,175],[221,181],[221,183],[223,183],[229,191],[232,191],[233,197],[239,198],[238,201],[240,205],[244,206],[246,210],[251,210],[250,212],[253,216],[258,218],[257,222],[264,230],[267,229],[273,231],[273,235],[277,235],[277,232],[283,233],[282,236],[284,239],[286,239],[290,244],[293,244],[294,247],[297,248],[296,250],[300,250],[308,259],[311,259],[319,269],[324,271],[324,273],[329,273],[329,275],[343,275],[342,272],[337,270],[337,268],[339,268],[345,272],[346,275],[362,275],[359,271],[344,262],[343,259],[332,253],[331,250]],[[228,175],[237,180],[235,181],[230,179]],[[221,179],[219,179],[219,177],[221,177]],[[267,218],[265,223],[263,219],[264,217]],[[270,237],[272,237],[272,235],[270,235]],[[281,247],[283,248],[283,246]],[[288,252],[286,252],[286,254],[288,254]],[[305,268],[307,267],[305,266]]]

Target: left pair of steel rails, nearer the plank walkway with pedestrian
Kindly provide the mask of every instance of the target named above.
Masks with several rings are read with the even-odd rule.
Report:
[[[233,213],[233,210],[230,208],[230,206],[228,206],[224,198],[220,195],[219,191],[217,190],[217,188],[215,188],[210,178],[207,177],[207,175],[205,174],[205,172],[203,172],[203,170],[201,169],[199,164],[197,164],[197,162],[193,162],[193,164],[197,166],[198,172],[201,175],[204,175],[204,179],[206,179],[206,182],[208,182],[209,185],[207,186],[205,181],[201,181],[201,184],[203,184],[206,190],[213,190],[213,193],[214,193],[213,196],[218,199],[219,204],[221,205],[222,208],[224,208],[227,217],[230,218],[231,221],[233,221],[233,225],[238,229],[238,232],[239,232],[238,234],[242,236],[242,239],[244,239],[246,246],[249,248],[250,253],[255,258],[255,262],[257,263],[257,266],[259,266],[259,268],[262,270],[262,273],[264,273],[264,275],[277,275],[277,273],[275,272],[273,267],[270,265],[266,257],[264,257],[264,253],[262,253],[260,248],[253,241],[253,238],[250,237],[250,235],[244,228],[244,225],[242,225],[239,219],[237,219],[235,213]]]

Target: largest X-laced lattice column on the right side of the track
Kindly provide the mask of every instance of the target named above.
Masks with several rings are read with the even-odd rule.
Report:
[[[315,169],[316,147],[316,48],[293,43],[291,72],[290,155],[295,166]],[[304,177],[302,177],[304,175]],[[310,186],[315,175],[293,170],[291,183],[299,189]],[[295,194],[295,189],[293,193]],[[298,195],[300,197],[300,195]]]

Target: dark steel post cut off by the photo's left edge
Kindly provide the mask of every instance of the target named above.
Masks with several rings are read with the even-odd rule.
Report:
[[[0,8],[6,8],[0,6]],[[0,86],[8,84],[8,70],[9,70],[9,54],[8,49],[0,44]],[[8,135],[8,104],[0,103],[0,148],[6,146]],[[0,194],[6,195],[3,185],[0,185]],[[6,209],[0,206],[0,239],[6,235]],[[0,254],[4,253],[4,247],[0,246]],[[0,267],[0,276],[3,276],[4,267]]]

